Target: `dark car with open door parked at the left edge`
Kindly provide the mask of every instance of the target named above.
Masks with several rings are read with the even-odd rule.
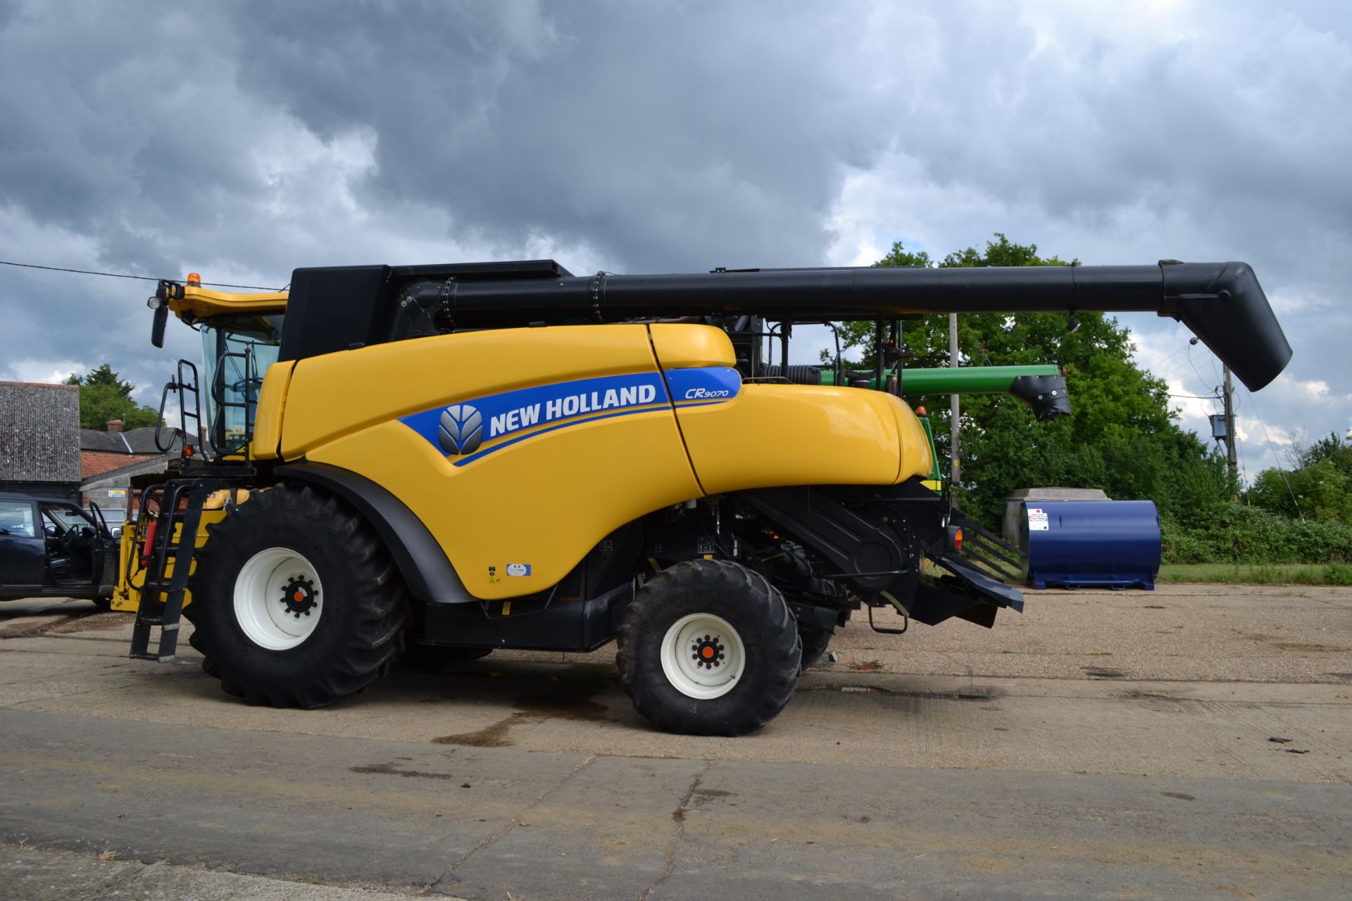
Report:
[[[107,609],[118,542],[97,507],[0,492],[0,601],[81,597]]]

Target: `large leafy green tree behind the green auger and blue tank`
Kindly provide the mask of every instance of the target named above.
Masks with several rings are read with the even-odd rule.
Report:
[[[927,253],[900,242],[877,266],[934,266]],[[1041,257],[1037,244],[996,234],[984,250],[967,247],[944,257],[942,267],[1067,266]],[[1168,407],[1167,385],[1140,369],[1130,334],[1102,312],[1076,312],[1068,331],[1060,312],[964,313],[959,317],[960,365],[1055,363],[1067,373],[1072,416],[1037,423],[1010,397],[963,398],[963,485],[968,515],[995,524],[1017,488],[1064,485],[1099,488],[1110,497],[1153,498],[1165,517],[1194,521],[1234,490],[1224,459],[1183,431]],[[872,366],[872,323],[841,326],[842,354],[860,349],[852,365]],[[907,366],[948,365],[948,315],[907,320],[902,330]],[[949,458],[948,404],[929,401],[936,444]],[[941,463],[944,465],[944,463]]]

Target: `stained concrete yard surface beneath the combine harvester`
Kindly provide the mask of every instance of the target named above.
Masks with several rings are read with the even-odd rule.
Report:
[[[652,731],[612,648],[296,712],[128,635],[0,604],[0,898],[1352,897],[1348,589],[856,621],[742,739]]]

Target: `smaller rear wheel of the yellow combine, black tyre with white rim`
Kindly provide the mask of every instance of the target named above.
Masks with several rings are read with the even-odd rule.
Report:
[[[754,732],[798,685],[794,616],[769,582],[737,563],[688,561],[648,580],[618,644],[634,708],[669,732]]]

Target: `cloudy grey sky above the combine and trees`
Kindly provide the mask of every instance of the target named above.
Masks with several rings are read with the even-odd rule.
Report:
[[[995,231],[1088,265],[1242,259],[1295,349],[1240,390],[1252,475],[1352,426],[1349,41],[1336,0],[0,0],[0,259],[281,286],[854,265]],[[110,361],[155,403],[197,351],[149,346],[147,288],[0,266],[0,378]],[[1220,384],[1182,327],[1124,321],[1175,393]],[[1211,401],[1176,404],[1206,428]]]

